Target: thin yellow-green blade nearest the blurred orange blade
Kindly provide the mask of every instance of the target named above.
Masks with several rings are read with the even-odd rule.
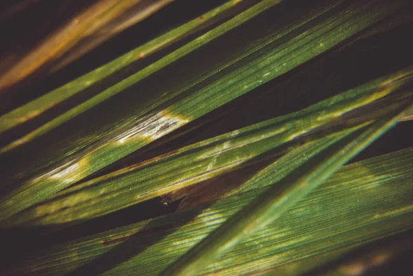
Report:
[[[163,47],[179,41],[194,30],[206,28],[216,17],[222,16],[222,14],[225,14],[225,12],[228,12],[231,8],[239,5],[239,3],[240,1],[237,0],[228,1],[222,6],[202,14],[200,18],[193,19],[188,23],[167,32],[166,34],[162,34],[156,39],[153,39],[152,41],[137,47],[135,50],[131,50],[127,54],[120,56],[118,59],[115,59],[114,61],[111,61],[106,65],[85,74],[84,76],[76,78],[76,80],[63,85],[62,87],[54,89],[52,92],[36,98],[36,100],[32,100],[30,103],[0,116],[0,133],[7,131],[8,129],[12,129],[13,127],[17,127],[32,118],[40,116],[54,105],[63,102],[63,100],[66,100],[77,93],[83,92],[87,87],[90,87],[98,81],[103,80],[103,78],[114,74],[114,72],[117,72],[118,70],[121,70],[127,65],[133,63],[136,59],[147,57]]]

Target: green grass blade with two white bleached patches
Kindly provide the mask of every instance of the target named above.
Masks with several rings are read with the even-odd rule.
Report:
[[[19,167],[19,173],[14,173],[14,171],[10,169],[12,177],[17,178],[17,180],[10,181],[14,182],[13,185],[14,187],[16,187],[16,190],[1,202],[0,213],[3,213],[1,217],[9,217],[28,206],[32,206],[36,202],[44,200],[53,193],[56,193],[57,191],[70,186],[70,184],[73,184],[74,182],[85,178],[85,176],[89,176],[91,173],[105,167],[107,164],[110,164],[115,160],[122,158],[123,156],[131,153],[132,151],[135,151],[136,149],[144,145],[147,145],[147,143],[151,142],[151,140],[167,134],[169,131],[172,131],[173,129],[176,129],[177,127],[180,127],[181,125],[187,123],[189,120],[193,120],[194,118],[198,118],[198,116],[202,116],[202,114],[204,114],[205,112],[211,111],[211,109],[218,107],[218,105],[224,104],[225,101],[231,100],[235,96],[240,96],[240,94],[248,92],[250,89],[253,89],[257,85],[261,84],[262,79],[260,76],[267,74],[269,67],[277,66],[277,64],[283,64],[282,67],[279,67],[280,70],[273,70],[268,72],[268,76],[266,76],[268,77],[268,80],[275,76],[279,76],[279,74],[282,74],[285,71],[290,70],[291,68],[297,66],[299,63],[302,63],[307,59],[310,59],[312,56],[317,55],[319,52],[324,52],[324,50],[326,50],[325,48],[327,47],[327,44],[323,45],[323,47],[313,47],[314,45],[312,43],[316,43],[316,41],[317,43],[319,43],[321,39],[318,35],[322,35],[324,39],[326,39],[325,42],[328,43],[328,47],[332,47],[339,41],[342,41],[355,32],[366,28],[367,25],[374,23],[374,21],[379,20],[379,18],[385,17],[385,14],[388,14],[388,12],[390,12],[388,9],[381,10],[381,8],[383,7],[379,6],[379,10],[381,10],[381,12],[383,13],[374,10],[372,14],[366,14],[366,9],[368,9],[369,7],[371,8],[372,5],[373,2],[366,1],[366,5],[364,6],[352,6],[352,9],[354,11],[352,13],[352,16],[348,15],[350,13],[346,12],[348,10],[347,6],[341,7],[341,9],[337,8],[337,10],[332,10],[331,18],[325,15],[326,17],[328,17],[328,20],[317,23],[318,25],[316,24],[314,27],[314,23],[311,23],[311,20],[308,19],[310,20],[307,20],[308,22],[310,22],[310,25],[306,28],[313,28],[310,28],[307,32],[301,33],[300,35],[296,36],[293,41],[285,43],[281,47],[282,49],[284,49],[284,51],[280,51],[279,47],[275,47],[274,45],[274,47],[269,47],[272,52],[268,52],[268,49],[262,49],[262,56],[257,56],[260,57],[260,59],[257,59],[255,63],[251,63],[251,60],[248,60],[248,63],[245,64],[246,68],[244,68],[243,70],[240,71],[240,69],[237,67],[237,69],[231,72],[231,74],[224,75],[226,77],[226,82],[215,81],[204,89],[200,89],[196,93],[191,94],[189,97],[180,99],[173,105],[173,111],[176,112],[176,114],[170,114],[167,112],[153,114],[153,116],[149,117],[144,116],[143,119],[134,118],[131,122],[132,124],[129,124],[129,127],[130,125],[132,125],[134,128],[127,129],[123,133],[123,137],[119,136],[118,131],[117,133],[112,135],[113,137],[112,139],[109,139],[109,141],[105,140],[106,142],[99,142],[97,146],[87,147],[86,149],[85,145],[92,143],[92,140],[95,138],[91,140],[90,136],[87,136],[86,138],[84,136],[81,136],[79,140],[72,140],[70,137],[66,137],[63,138],[62,141],[55,137],[55,141],[59,141],[58,143],[61,144],[56,144],[56,147],[47,145],[47,149],[50,149],[50,151],[39,151],[41,147],[34,147],[30,149],[30,151],[27,151],[26,149],[24,152],[22,152],[22,154],[32,154],[30,158],[27,158],[28,166],[31,167],[25,167],[25,160],[19,160],[19,166],[20,162],[23,163]],[[356,11],[358,11],[359,13],[357,13]],[[368,10],[368,12],[370,12],[370,10]],[[337,14],[342,13],[346,15],[342,18],[340,17],[342,21],[332,20],[337,16]],[[338,28],[339,26],[340,28],[344,28],[344,26],[348,28],[344,29],[346,30],[346,32],[340,32],[340,34],[337,34],[335,32],[335,28]],[[309,36],[310,31],[314,32],[313,41],[311,41]],[[325,35],[326,32],[329,35]],[[304,34],[306,35],[304,36]],[[334,39],[332,36],[334,37]],[[279,43],[279,41],[277,42],[277,38],[279,38],[279,36],[271,36],[269,42],[267,41],[269,43],[268,45],[271,45],[271,41],[273,41],[275,45],[277,45],[277,43]],[[310,39],[311,43],[310,41],[308,41],[308,39]],[[292,47],[292,45],[295,46]],[[257,49],[255,50],[259,50],[261,49],[261,47],[262,46],[257,47]],[[310,56],[308,56],[308,51],[310,49],[312,50],[310,51]],[[296,50],[298,52],[295,52]],[[305,54],[303,58],[299,54],[300,52],[307,54]],[[292,61],[291,58],[294,56],[300,56],[300,58],[294,58],[294,61]],[[264,61],[262,59],[264,59]],[[291,62],[286,63],[286,67],[284,67],[285,61]],[[242,71],[246,72],[246,74],[250,74],[250,76],[246,78],[244,74],[240,74]],[[260,77],[259,81],[257,81],[257,76]],[[242,81],[237,81],[238,79]],[[229,85],[229,87],[227,87],[226,85]],[[202,103],[204,103],[205,101],[208,101],[210,105],[203,105]],[[216,106],[214,106],[215,104]],[[172,107],[170,109],[172,109]],[[181,117],[181,115],[185,117]],[[136,121],[140,123],[136,123]],[[81,123],[81,125],[82,124],[83,122]],[[116,123],[115,125],[106,125],[105,129],[107,129],[107,127],[116,127],[117,124],[118,123]],[[76,125],[76,127],[78,126],[79,125]],[[138,131],[138,133],[136,134],[134,133],[134,131],[136,131],[136,127],[142,127],[143,130]],[[160,129],[162,129],[162,131],[159,131]],[[152,135],[153,133],[155,133],[155,135]],[[147,135],[145,136],[145,134]],[[100,135],[97,135],[96,137],[101,138]],[[125,139],[127,140],[127,142],[119,142],[118,140],[116,140],[116,138],[119,137],[130,139]],[[67,148],[66,145],[70,145],[70,147],[75,148]],[[83,151],[81,149],[83,149]],[[39,155],[37,155],[37,153],[39,153]],[[74,153],[77,153],[77,156],[75,156]],[[47,154],[50,154],[50,156],[47,156]],[[81,156],[79,157],[80,154]],[[56,156],[63,158],[63,160],[59,160],[60,162],[57,162],[56,164]],[[6,166],[6,168],[8,167]],[[4,173],[8,173],[8,171],[9,170],[6,169]],[[34,173],[33,171],[37,171],[36,177],[21,182],[22,178],[24,179],[25,177],[30,176],[30,173]],[[22,191],[24,191],[25,193],[24,196],[23,193],[21,193]],[[19,193],[21,194],[19,195]],[[15,197],[14,195],[18,196]],[[27,195],[27,197],[25,195]]]

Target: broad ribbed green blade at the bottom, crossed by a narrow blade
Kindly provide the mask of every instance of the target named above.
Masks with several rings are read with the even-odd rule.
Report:
[[[299,155],[305,162],[304,153]],[[412,229],[412,153],[412,148],[404,149],[342,167],[277,222],[198,275],[259,273]],[[266,179],[262,184],[268,184]],[[262,191],[237,193],[206,209],[201,206],[45,248],[2,274],[82,275],[90,263],[98,265],[87,271],[89,275],[136,275],[137,270],[140,275],[157,275]],[[144,249],[138,254],[140,248]],[[124,262],[103,268],[115,259]]]

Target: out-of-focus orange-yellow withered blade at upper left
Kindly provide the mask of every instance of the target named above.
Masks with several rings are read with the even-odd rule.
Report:
[[[167,5],[169,2],[169,0],[156,0],[152,3],[152,9],[147,10],[144,8],[145,3],[142,3],[141,0],[96,1],[96,3],[93,3],[72,17],[71,20],[65,22],[63,27],[49,34],[44,41],[36,45],[36,47],[23,56],[23,58],[17,60],[7,72],[0,76],[0,89],[7,89],[19,83],[19,81],[30,76],[30,74],[33,74],[36,70],[45,67],[47,63],[59,59],[64,54],[67,54],[67,52],[70,53],[70,50],[72,50],[76,43],[81,42],[83,39],[88,39],[91,33],[98,31],[100,28],[107,27],[107,25],[116,21],[116,19],[119,21],[120,19],[118,17],[127,10],[136,10],[136,13],[141,15],[141,17],[136,18],[139,20],[142,19],[142,17],[147,17],[151,13],[156,12],[156,10]],[[63,4],[67,5],[67,3]],[[114,34],[116,34],[116,29],[108,32],[106,37],[100,37],[100,41],[96,40],[96,38],[94,41],[89,41],[89,45],[93,47]]]

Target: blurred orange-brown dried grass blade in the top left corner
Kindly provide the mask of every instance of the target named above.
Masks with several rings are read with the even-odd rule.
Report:
[[[17,60],[7,72],[0,76],[0,91],[18,83],[44,67],[52,63],[67,52],[70,52],[77,43],[87,41],[87,45],[78,49],[77,54],[70,52],[63,61],[54,63],[54,70],[70,63],[78,56],[92,50],[99,43],[106,41],[111,36],[130,25],[148,17],[171,0],[100,0],[75,14],[65,24],[49,34],[41,43],[36,45],[25,56]],[[66,3],[63,3],[66,5]],[[135,12],[131,16],[131,12]],[[125,16],[129,13],[129,17]],[[123,17],[123,19],[122,19]],[[106,30],[105,30],[106,28]],[[104,34],[96,34],[105,30]],[[110,31],[109,31],[110,30]],[[92,36],[94,34],[94,36]],[[92,36],[92,37],[91,37]],[[52,63],[53,64],[53,63]],[[52,70],[53,71],[53,70]]]

